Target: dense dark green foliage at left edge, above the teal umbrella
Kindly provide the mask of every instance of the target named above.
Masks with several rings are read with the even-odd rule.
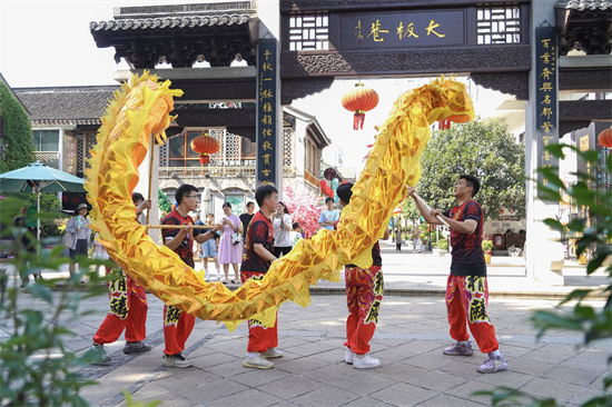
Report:
[[[0,160],[0,173],[26,167],[36,160],[30,118],[9,88],[0,82],[0,119],[2,135],[8,145],[4,160]]]

